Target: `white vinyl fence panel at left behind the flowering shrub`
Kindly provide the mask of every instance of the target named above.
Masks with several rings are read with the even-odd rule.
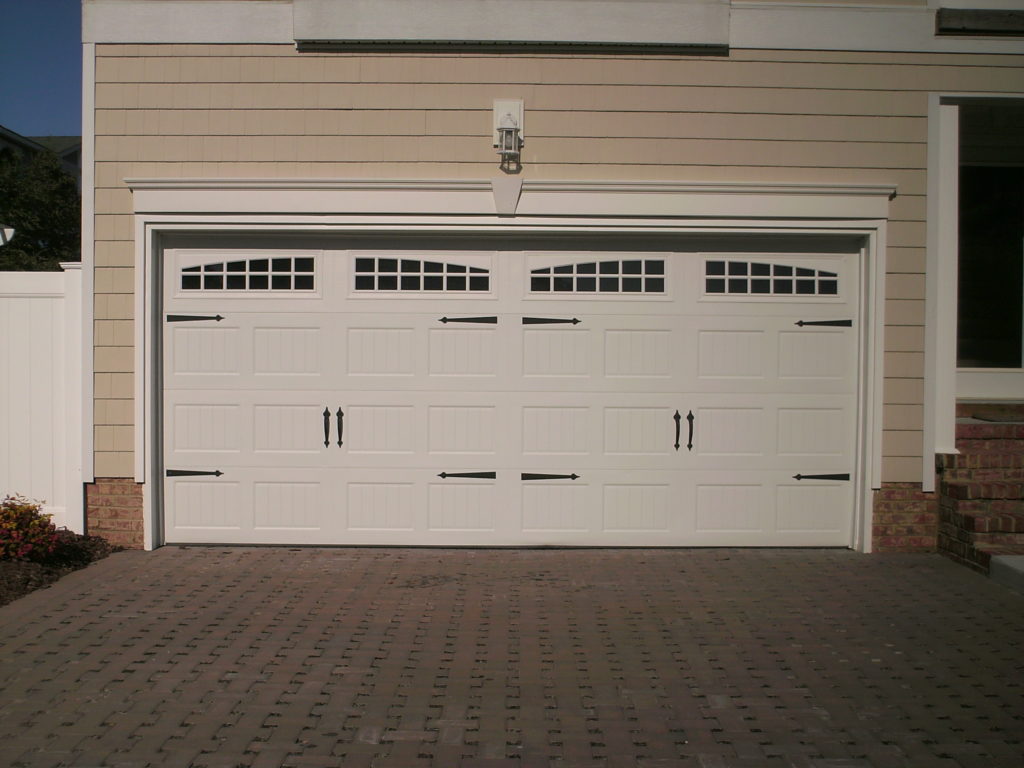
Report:
[[[0,271],[0,497],[83,532],[82,269]]]

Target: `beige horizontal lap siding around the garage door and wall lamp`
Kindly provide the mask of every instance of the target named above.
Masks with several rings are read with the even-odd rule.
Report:
[[[524,176],[893,184],[886,481],[920,479],[929,91],[1024,91],[1020,58],[299,54],[97,45],[96,473],[130,475],[129,176],[488,178],[525,102]]]

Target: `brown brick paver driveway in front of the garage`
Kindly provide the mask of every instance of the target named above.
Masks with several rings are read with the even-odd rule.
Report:
[[[4,766],[1024,765],[1024,598],[937,556],[167,547],[0,643]]]

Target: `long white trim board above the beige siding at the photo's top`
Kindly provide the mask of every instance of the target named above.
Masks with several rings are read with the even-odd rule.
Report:
[[[401,4],[389,2],[392,7]],[[392,9],[381,11],[382,3],[370,0],[297,0],[294,4],[291,0],[90,0],[83,4],[82,39],[87,43],[294,44],[315,34],[318,41],[333,35],[355,43],[532,41],[642,46],[669,41],[670,45],[781,50],[1024,53],[1020,39],[938,37],[935,8],[925,6],[602,0],[600,13],[587,14],[581,12],[579,0],[532,0],[530,12],[520,18],[515,15],[520,4],[432,0],[430,15],[410,17]],[[433,24],[435,5],[444,11],[437,15],[438,25],[422,29],[423,24]],[[638,5],[650,12],[637,12]],[[513,14],[515,30],[505,31],[508,19],[495,17],[498,7],[503,14]],[[615,23],[609,24],[609,18]],[[685,24],[665,20],[679,18],[686,19]],[[457,24],[445,27],[445,19]],[[441,33],[439,39],[425,39]],[[474,40],[457,35],[472,35]]]

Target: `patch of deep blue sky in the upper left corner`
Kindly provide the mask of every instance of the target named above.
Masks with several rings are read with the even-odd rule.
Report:
[[[82,132],[81,0],[0,0],[0,125]]]

